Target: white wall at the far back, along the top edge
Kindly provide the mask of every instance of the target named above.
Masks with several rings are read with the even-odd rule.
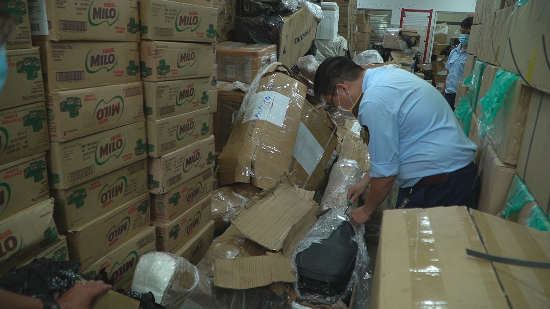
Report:
[[[476,0],[357,0],[360,9],[392,10],[392,24],[399,25],[401,9],[433,9],[439,12],[473,13]]]

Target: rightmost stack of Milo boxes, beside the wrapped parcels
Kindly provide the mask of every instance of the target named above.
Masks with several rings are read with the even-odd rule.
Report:
[[[213,238],[211,79],[219,15],[210,1],[183,2],[140,2],[141,79],[156,249],[198,262]]]

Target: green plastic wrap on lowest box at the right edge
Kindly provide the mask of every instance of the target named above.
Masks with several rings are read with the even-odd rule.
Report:
[[[518,175],[514,176],[506,205],[497,216],[533,229],[550,231],[550,219]]]

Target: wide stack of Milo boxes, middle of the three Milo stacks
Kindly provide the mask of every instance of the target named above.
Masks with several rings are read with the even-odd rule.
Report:
[[[138,2],[46,2],[30,13],[45,81],[54,219],[82,271],[105,268],[122,287],[137,259],[155,249]]]

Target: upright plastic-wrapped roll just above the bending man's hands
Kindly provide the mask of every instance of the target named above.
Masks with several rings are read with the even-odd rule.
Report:
[[[332,172],[329,175],[320,211],[323,212],[328,209],[345,211],[348,204],[348,188],[359,182],[360,176],[361,167],[357,161],[339,159],[332,167]],[[351,205],[351,208],[357,208],[358,203],[359,199]]]

